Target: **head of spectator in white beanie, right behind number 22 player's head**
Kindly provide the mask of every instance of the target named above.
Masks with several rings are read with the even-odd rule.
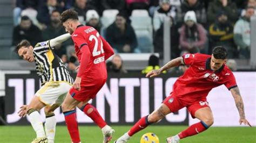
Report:
[[[87,11],[87,13],[86,13],[86,25],[87,26],[92,26],[98,32],[100,32],[100,28],[102,27],[102,25],[100,24],[99,15],[98,15],[96,10]]]

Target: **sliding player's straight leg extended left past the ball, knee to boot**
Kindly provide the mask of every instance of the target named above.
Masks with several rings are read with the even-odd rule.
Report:
[[[157,123],[160,119],[163,119],[167,114],[171,111],[165,104],[161,104],[160,108],[153,111],[150,115],[142,117],[137,121],[137,123],[129,130],[129,132],[125,133],[122,137],[118,138],[115,143],[124,143],[129,140],[133,134],[136,134],[140,130],[143,130],[148,125]]]

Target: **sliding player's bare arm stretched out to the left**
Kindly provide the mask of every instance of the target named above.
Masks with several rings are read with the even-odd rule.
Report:
[[[149,73],[146,74],[146,77],[154,77],[154,76],[157,76],[159,74],[161,74],[161,72],[169,69],[169,68],[172,68],[172,67],[176,67],[176,66],[179,66],[181,64],[184,64],[183,62],[183,58],[180,56],[176,59],[173,59],[169,62],[167,62],[163,67],[161,67],[160,69],[154,69],[154,70],[151,70]]]

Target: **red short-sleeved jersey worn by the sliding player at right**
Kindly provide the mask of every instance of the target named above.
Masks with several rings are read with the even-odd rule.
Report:
[[[237,87],[232,71],[225,64],[217,71],[211,70],[211,55],[197,53],[182,57],[190,67],[173,85],[173,94],[181,100],[192,103],[204,99],[213,88],[222,84],[229,90]]]

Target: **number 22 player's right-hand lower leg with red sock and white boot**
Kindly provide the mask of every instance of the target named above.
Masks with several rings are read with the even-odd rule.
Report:
[[[102,116],[99,115],[98,110],[91,105],[90,103],[86,103],[84,106],[80,108],[88,117],[90,117],[95,124],[97,124],[103,133],[103,143],[110,142],[112,139],[112,135],[114,134],[113,128],[108,126]]]

